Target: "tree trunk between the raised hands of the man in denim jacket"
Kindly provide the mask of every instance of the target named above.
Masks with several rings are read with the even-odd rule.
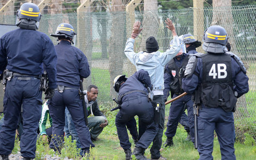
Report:
[[[145,0],[140,51],[146,51],[146,39],[149,36],[157,38],[159,27],[159,18],[157,13],[157,0]]]

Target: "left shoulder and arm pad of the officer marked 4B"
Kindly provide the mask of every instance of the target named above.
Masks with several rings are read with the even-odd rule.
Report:
[[[203,53],[196,53],[191,55],[191,57],[188,60],[188,64],[186,66],[185,70],[185,77],[190,77],[194,74],[194,71],[196,69],[196,64],[197,64],[197,58],[201,57]]]

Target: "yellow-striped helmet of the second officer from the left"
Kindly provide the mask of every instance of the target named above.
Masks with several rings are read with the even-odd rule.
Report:
[[[57,30],[55,31],[55,35],[51,35],[53,37],[60,37],[65,36],[65,38],[69,37],[71,39],[74,38],[76,35],[73,26],[71,26],[69,23],[60,23],[60,25],[57,27]]]

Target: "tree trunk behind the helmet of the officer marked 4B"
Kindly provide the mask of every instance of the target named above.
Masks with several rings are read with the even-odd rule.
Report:
[[[212,18],[212,25],[219,25],[226,29],[228,34],[228,42],[231,44],[232,49],[231,51],[235,54],[238,54],[236,52],[236,45],[235,45],[235,39],[234,39],[234,33],[233,33],[233,15],[231,11],[231,0],[213,0],[212,1],[213,6],[213,18]],[[243,95],[237,100],[236,105],[236,117],[242,117],[242,116],[248,116],[249,113],[247,111],[246,107],[246,99]]]

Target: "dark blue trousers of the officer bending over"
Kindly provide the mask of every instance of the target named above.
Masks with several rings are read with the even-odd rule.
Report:
[[[126,95],[123,98],[122,108],[116,115],[116,129],[120,145],[123,149],[131,148],[126,123],[137,115],[146,129],[136,143],[136,147],[146,149],[153,141],[157,132],[157,125],[154,122],[154,109],[151,103],[148,102],[147,97],[137,95],[128,96]]]

